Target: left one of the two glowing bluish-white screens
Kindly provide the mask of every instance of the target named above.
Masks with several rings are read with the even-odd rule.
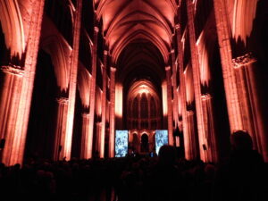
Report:
[[[128,154],[129,131],[115,130],[115,157],[125,157]]]

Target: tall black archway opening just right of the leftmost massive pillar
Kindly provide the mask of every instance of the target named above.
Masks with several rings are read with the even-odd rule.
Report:
[[[26,158],[31,156],[53,158],[57,89],[51,56],[39,50],[29,113]]]

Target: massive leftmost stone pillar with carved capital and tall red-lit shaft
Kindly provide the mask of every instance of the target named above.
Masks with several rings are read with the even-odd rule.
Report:
[[[32,2],[24,66],[1,66],[4,79],[0,88],[0,137],[5,139],[2,162],[22,163],[35,78],[44,0]]]

